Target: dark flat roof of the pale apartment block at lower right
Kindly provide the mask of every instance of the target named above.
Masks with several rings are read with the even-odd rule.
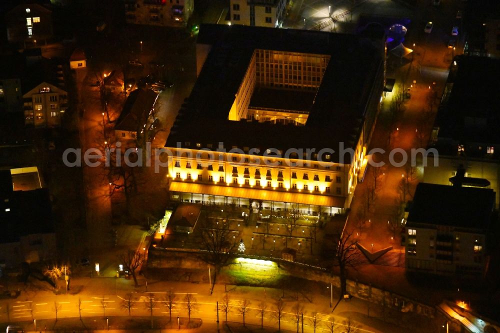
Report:
[[[421,182],[416,186],[407,225],[424,223],[485,229],[494,205],[492,189]]]

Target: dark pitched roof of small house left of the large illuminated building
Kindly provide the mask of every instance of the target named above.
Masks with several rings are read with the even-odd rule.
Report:
[[[138,121],[147,120],[158,95],[151,89],[135,89],[128,95],[114,129],[137,131]]]

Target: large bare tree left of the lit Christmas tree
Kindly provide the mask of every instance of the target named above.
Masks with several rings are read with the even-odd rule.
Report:
[[[200,254],[201,260],[214,267],[213,280],[210,292],[215,286],[217,273],[224,266],[231,263],[232,256],[229,252],[236,248],[235,237],[226,223],[218,222],[206,217],[201,223],[200,244],[203,251]]]

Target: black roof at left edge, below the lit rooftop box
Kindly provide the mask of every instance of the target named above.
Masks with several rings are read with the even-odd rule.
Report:
[[[0,228],[0,242],[4,243],[28,234],[54,232],[48,189],[13,191],[1,197]]]

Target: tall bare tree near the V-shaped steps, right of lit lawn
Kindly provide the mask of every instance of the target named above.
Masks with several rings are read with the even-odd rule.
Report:
[[[334,266],[339,268],[340,277],[340,294],[344,294],[347,285],[347,270],[348,266],[352,265],[352,256],[356,249],[357,240],[353,238],[352,231],[342,230],[341,228],[336,230],[336,243],[335,256],[334,256]]]

